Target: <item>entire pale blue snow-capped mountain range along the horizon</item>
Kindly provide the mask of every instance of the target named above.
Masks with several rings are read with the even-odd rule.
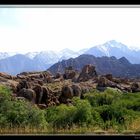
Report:
[[[46,70],[57,62],[69,58],[76,58],[82,54],[94,55],[95,57],[115,56],[116,59],[125,57],[132,64],[140,64],[140,50],[130,49],[120,42],[111,40],[102,45],[97,45],[89,49],[82,49],[78,52],[74,52],[70,49],[64,49],[60,52],[41,51],[28,52],[25,54],[1,52],[0,72],[16,75],[23,71]],[[81,64],[78,65],[82,65],[84,62],[80,63]]]

